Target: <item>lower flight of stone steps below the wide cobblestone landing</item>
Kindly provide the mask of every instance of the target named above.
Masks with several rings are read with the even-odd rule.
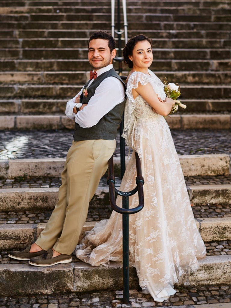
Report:
[[[35,161],[35,160],[34,160]],[[15,164],[15,173],[5,173],[8,179],[20,172],[28,171],[26,166],[30,166],[30,160],[11,160]],[[59,168],[63,165],[63,160],[56,160]],[[37,168],[42,172],[47,170],[50,165],[49,160],[38,160]],[[115,166],[118,165],[115,159]],[[184,155],[180,156],[180,163],[185,176],[201,176],[201,183],[188,185],[188,193],[193,203],[196,223],[201,236],[207,246],[207,256],[200,260],[200,267],[197,273],[190,276],[191,286],[216,286],[231,284],[231,177],[230,177],[230,158],[228,155]],[[4,164],[4,162],[1,164]],[[211,168],[213,166],[213,168]],[[36,169],[36,167],[34,167]],[[50,176],[57,176],[59,168],[51,169]],[[4,168],[1,168],[3,170]],[[6,169],[5,169],[6,170]],[[8,169],[9,170],[9,169]],[[54,170],[54,172],[52,172]],[[118,168],[115,168],[118,170]],[[57,172],[57,173],[56,173]],[[33,171],[34,173],[34,171]],[[4,176],[4,173],[1,173]],[[221,184],[203,184],[203,176],[216,178],[219,176],[229,176],[229,184],[225,180]],[[37,174],[37,176],[39,176]],[[41,176],[47,176],[40,173]],[[28,173],[30,179],[30,173]],[[213,180],[212,180],[213,181]],[[119,186],[120,180],[117,180]],[[66,265],[57,265],[52,268],[36,268],[27,262],[16,261],[7,257],[6,251],[10,249],[20,249],[33,242],[44,229],[46,223],[39,220],[33,221],[33,216],[41,219],[41,213],[50,211],[55,206],[58,188],[2,188],[0,189],[0,285],[1,295],[7,296],[12,292],[23,294],[43,293],[49,294],[54,291],[62,292],[89,292],[92,290],[112,289],[118,290],[122,287],[121,265],[112,262],[107,268],[91,267],[79,262],[73,256],[73,262]],[[91,219],[85,223],[84,231],[91,229],[95,225],[94,211],[102,211],[110,216],[108,188],[105,180],[101,184],[93,197],[89,212],[93,212]],[[215,208],[215,211],[212,210]],[[197,215],[198,208],[201,213]],[[207,214],[203,215],[207,208]],[[213,212],[216,212],[215,215]],[[224,215],[221,215],[224,212]],[[211,215],[213,214],[213,215]],[[49,215],[48,215],[49,216]],[[6,218],[4,218],[6,217]],[[20,218],[18,218],[20,217]],[[44,218],[44,217],[43,217]],[[105,218],[105,217],[104,217]],[[99,219],[98,219],[99,220]],[[216,246],[216,247],[215,247]],[[36,285],[34,281],[36,280]],[[134,268],[131,268],[130,283],[132,288],[137,288],[137,277]],[[59,282],[59,283],[57,283]],[[179,281],[179,285],[182,281]]]

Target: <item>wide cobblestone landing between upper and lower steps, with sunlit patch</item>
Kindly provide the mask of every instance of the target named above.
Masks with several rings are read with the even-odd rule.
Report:
[[[180,155],[231,153],[230,130],[172,130]],[[0,159],[65,158],[73,133],[63,131],[0,131]],[[117,134],[115,156],[120,156]],[[128,147],[125,147],[128,154]]]

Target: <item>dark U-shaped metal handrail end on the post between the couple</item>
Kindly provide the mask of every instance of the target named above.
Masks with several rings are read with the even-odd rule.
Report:
[[[114,166],[113,166],[113,155],[108,161],[108,177],[107,177],[107,184],[109,186],[109,196],[110,196],[110,204],[111,208],[121,214],[134,214],[139,211],[141,211],[144,207],[144,178],[142,176],[142,171],[141,171],[141,163],[140,163],[140,158],[138,154],[135,152],[136,155],[136,184],[137,186],[131,190],[130,192],[122,192],[118,189],[115,188],[115,177],[114,177]],[[123,197],[129,197],[134,195],[138,191],[138,200],[139,204],[132,209],[123,209],[120,208],[118,205],[115,203],[115,192]]]

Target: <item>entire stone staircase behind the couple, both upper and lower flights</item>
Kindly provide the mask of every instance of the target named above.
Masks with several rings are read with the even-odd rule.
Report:
[[[180,83],[187,109],[167,118],[171,128],[230,129],[230,10],[228,0],[127,0],[128,37],[139,33],[151,37],[152,70],[161,79]],[[71,129],[73,123],[64,111],[90,70],[88,37],[95,30],[110,31],[110,23],[110,1],[94,2],[94,7],[92,1],[83,0],[0,1],[0,129]],[[127,73],[123,66],[123,75]],[[23,181],[24,175],[28,183],[33,177],[38,182],[57,178],[64,161],[0,160],[0,178],[9,183],[15,178]],[[118,175],[119,158],[114,162]],[[207,256],[190,276],[190,284],[231,285],[230,157],[182,155],[180,163],[184,175],[195,179],[188,184],[188,193],[207,246]],[[214,184],[213,179],[222,176]],[[7,257],[8,250],[21,249],[39,236],[57,191],[51,185],[0,189],[0,295],[121,289],[122,270],[117,263],[96,268],[73,257],[70,264],[36,268]],[[91,201],[83,232],[102,218],[97,216],[100,211],[103,218],[110,216],[105,178]],[[131,287],[136,288],[134,268],[130,273]]]

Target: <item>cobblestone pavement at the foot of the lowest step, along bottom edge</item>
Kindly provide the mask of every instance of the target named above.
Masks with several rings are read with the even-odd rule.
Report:
[[[229,303],[231,298],[231,286],[212,287],[176,287],[176,294],[168,301],[162,303],[154,302],[151,295],[143,294],[141,290],[130,290],[130,301],[128,305],[122,303],[123,292],[100,291],[94,293],[71,293],[23,296],[12,294],[10,297],[0,298],[0,308],[126,308],[126,307],[172,307],[181,308],[198,307],[201,304]],[[182,306],[183,305],[183,306]],[[185,306],[187,305],[187,306]],[[222,306],[220,306],[222,308]]]

